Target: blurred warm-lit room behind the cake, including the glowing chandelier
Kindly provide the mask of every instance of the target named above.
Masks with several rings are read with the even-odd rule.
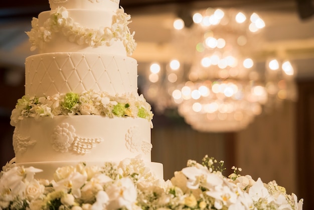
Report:
[[[276,180],[314,205],[311,0],[121,0],[135,31],[139,92],[152,105],[151,159],[164,177],[205,155]],[[0,3],[0,164],[14,157],[11,112],[24,95],[26,31],[48,1]]]

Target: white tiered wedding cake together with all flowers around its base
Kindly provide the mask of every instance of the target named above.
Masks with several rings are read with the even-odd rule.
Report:
[[[25,95],[12,112],[16,157],[1,210],[289,209],[303,199],[223,161],[188,160],[171,180],[151,162],[152,112],[119,0],[50,0],[32,21]]]

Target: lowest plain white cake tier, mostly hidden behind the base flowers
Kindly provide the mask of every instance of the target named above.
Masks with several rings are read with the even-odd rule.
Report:
[[[94,162],[86,162],[86,166],[104,166],[104,163],[108,162],[105,160],[99,159],[98,161]],[[67,166],[76,166],[79,163],[79,161],[63,161],[63,162],[32,162],[32,163],[19,163],[17,165],[23,165],[24,167],[35,167],[38,169],[42,169],[43,171],[40,173],[35,174],[35,178],[37,179],[48,179],[53,180],[54,179],[54,172],[59,167],[67,167]],[[119,162],[114,162],[116,164],[119,164]],[[164,179],[164,168],[162,163],[155,163],[155,162],[144,162],[145,166],[150,169],[150,171],[155,175],[155,178],[163,180]]]

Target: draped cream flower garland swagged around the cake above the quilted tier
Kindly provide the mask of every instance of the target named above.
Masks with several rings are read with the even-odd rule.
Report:
[[[110,46],[115,40],[120,40],[123,42],[127,54],[132,55],[136,48],[136,43],[133,39],[135,32],[130,34],[130,30],[127,27],[131,22],[129,20],[130,15],[124,13],[124,9],[120,8],[112,17],[111,28],[88,29],[75,23],[69,17],[66,8],[58,7],[41,27],[38,24],[38,19],[33,18],[32,30],[26,33],[32,44],[31,51],[34,51],[36,48],[42,48],[45,42],[49,42],[52,39],[54,32],[62,32],[64,36],[69,38],[69,41],[76,42],[79,45],[87,44],[91,47]]]

